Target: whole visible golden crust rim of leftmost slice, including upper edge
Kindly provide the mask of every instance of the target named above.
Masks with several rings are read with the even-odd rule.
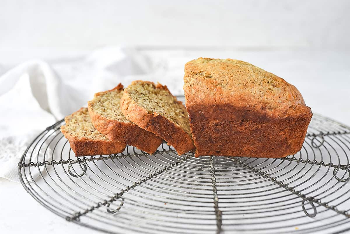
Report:
[[[66,124],[70,124],[71,116],[76,115],[78,112],[83,111],[86,108],[80,108],[78,111],[65,117]],[[89,139],[87,137],[78,137],[75,132],[67,131],[66,125],[61,126],[61,132],[68,139],[69,144],[75,156],[89,156],[89,155],[104,155],[115,154],[124,151],[126,145],[120,142],[111,141],[105,138],[102,139]]]

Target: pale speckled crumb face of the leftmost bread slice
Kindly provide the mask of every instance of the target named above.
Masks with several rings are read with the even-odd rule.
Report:
[[[78,111],[66,116],[64,121],[66,124],[61,126],[61,132],[65,136],[91,141],[109,141],[105,135],[94,128],[87,108],[80,108]]]

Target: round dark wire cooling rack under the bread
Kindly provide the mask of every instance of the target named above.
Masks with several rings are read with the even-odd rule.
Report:
[[[342,233],[350,230],[350,128],[314,114],[302,150],[279,159],[195,158],[163,143],[153,155],[76,158],[59,131],[18,164],[51,212],[107,233]]]

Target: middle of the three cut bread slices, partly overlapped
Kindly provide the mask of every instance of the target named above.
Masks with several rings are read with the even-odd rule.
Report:
[[[120,110],[123,85],[99,92],[87,103],[94,127],[110,140],[132,145],[147,153],[154,153],[162,143],[162,138],[139,128],[128,121]]]

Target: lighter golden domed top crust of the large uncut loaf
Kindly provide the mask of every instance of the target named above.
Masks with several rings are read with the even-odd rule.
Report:
[[[185,65],[186,106],[227,105],[269,117],[312,115],[300,92],[282,78],[250,63],[198,58]]]

